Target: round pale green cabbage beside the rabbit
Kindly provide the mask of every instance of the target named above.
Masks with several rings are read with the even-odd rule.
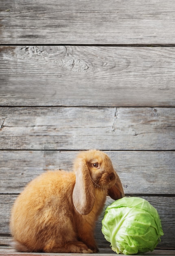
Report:
[[[102,233],[117,254],[153,251],[164,234],[157,210],[137,197],[125,197],[107,207]]]

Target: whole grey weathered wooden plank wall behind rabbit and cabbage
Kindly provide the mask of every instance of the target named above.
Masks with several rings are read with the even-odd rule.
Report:
[[[0,2],[0,245],[27,182],[97,148],[175,249],[174,35],[174,0]]]

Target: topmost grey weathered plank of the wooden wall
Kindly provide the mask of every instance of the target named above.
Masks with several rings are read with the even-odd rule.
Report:
[[[174,0],[6,0],[0,9],[2,44],[174,44]]]

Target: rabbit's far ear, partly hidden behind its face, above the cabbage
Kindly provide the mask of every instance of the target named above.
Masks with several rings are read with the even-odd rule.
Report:
[[[116,183],[114,184],[114,186],[108,189],[108,195],[114,200],[123,198],[125,196],[120,178],[118,177],[117,174],[116,174],[116,177],[117,177]]]

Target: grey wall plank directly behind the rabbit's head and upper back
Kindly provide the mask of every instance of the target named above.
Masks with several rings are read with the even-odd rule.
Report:
[[[77,151],[0,151],[0,193],[20,193],[48,169],[72,171]],[[105,151],[126,194],[175,195],[175,152]]]

